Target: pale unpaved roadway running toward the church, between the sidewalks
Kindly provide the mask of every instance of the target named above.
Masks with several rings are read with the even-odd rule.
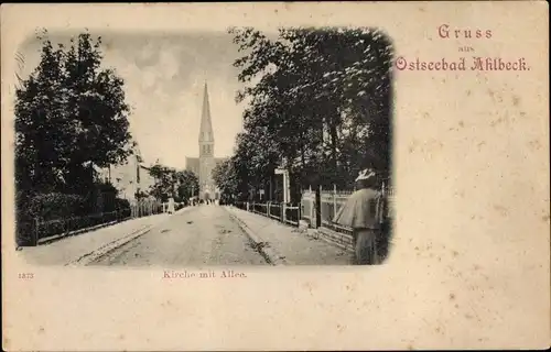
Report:
[[[90,265],[266,265],[218,206],[198,206],[108,253]]]

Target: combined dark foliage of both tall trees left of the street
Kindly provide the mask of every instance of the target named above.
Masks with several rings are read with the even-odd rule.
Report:
[[[132,153],[123,81],[100,67],[101,38],[83,33],[68,48],[40,40],[40,64],[17,89],[18,187],[83,194],[94,183],[93,165]]]

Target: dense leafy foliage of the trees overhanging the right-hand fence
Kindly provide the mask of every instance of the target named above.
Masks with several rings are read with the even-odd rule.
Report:
[[[302,187],[349,187],[365,167],[389,176],[392,47],[380,31],[281,29],[274,40],[250,28],[229,33],[244,53],[235,66],[246,87],[236,101],[247,102],[226,167],[233,187],[259,187],[277,166]]]

